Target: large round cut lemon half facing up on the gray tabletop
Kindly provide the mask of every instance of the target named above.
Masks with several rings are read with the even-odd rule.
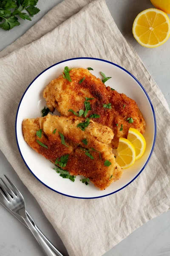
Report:
[[[164,44],[170,36],[170,19],[161,10],[150,8],[137,15],[133,22],[134,38],[144,47]]]

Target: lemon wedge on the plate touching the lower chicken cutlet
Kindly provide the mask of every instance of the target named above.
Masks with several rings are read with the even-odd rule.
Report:
[[[125,138],[119,138],[116,156],[116,162],[119,164],[119,166],[126,169],[133,165],[135,158],[136,152],[132,143]]]

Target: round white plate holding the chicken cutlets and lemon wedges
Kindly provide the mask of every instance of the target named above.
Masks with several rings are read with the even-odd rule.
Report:
[[[96,77],[100,77],[100,71],[106,76],[112,76],[106,82],[106,86],[110,86],[119,93],[125,93],[134,99],[144,115],[147,127],[144,134],[146,140],[146,151],[144,155],[137,160],[132,167],[125,169],[122,178],[112,183],[107,189],[100,191],[92,183],[86,186],[80,182],[81,176],[77,176],[73,183],[69,179],[62,179],[54,170],[54,164],[46,160],[40,154],[37,154],[23,138],[22,122],[25,118],[36,118],[41,116],[41,110],[46,106],[42,97],[45,86],[52,80],[57,78],[64,67],[92,67],[90,72]],[[139,70],[140,72],[140,70]],[[54,112],[57,114],[57,111]],[[127,70],[118,65],[96,58],[74,58],[61,61],[48,67],[40,75],[38,75],[28,86],[20,101],[16,116],[16,139],[20,154],[31,173],[45,186],[62,195],[75,198],[99,198],[111,195],[125,188],[143,171],[147,165],[156,140],[156,118],[153,105],[147,95],[142,84],[131,75]]]

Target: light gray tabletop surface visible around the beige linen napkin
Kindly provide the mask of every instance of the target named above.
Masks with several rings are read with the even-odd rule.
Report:
[[[74,0],[71,0],[74,1]],[[0,50],[23,35],[31,26],[61,0],[39,0],[41,12],[32,21],[21,21],[21,25],[5,32],[0,29]],[[140,46],[132,35],[132,24],[136,15],[152,8],[150,0],[106,0],[118,28],[133,45],[153,79],[159,85],[170,105],[170,39],[161,47],[147,49]],[[68,253],[55,230],[45,218],[34,197],[17,177],[14,169],[0,152],[0,175],[6,173],[14,181],[26,199],[27,209],[42,232],[65,255]],[[43,253],[29,230],[0,205],[0,256],[42,256]],[[97,256],[97,255],[96,255]],[[126,239],[105,253],[105,256],[170,256],[170,212],[147,222]]]

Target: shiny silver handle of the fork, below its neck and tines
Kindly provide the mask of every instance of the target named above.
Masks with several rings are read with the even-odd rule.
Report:
[[[55,254],[51,248],[49,247],[49,245],[45,242],[45,240],[42,238],[42,236],[40,236],[40,234],[38,233],[37,229],[34,227],[34,225],[31,223],[31,221],[29,220],[29,218],[27,217],[23,217],[24,221],[26,222],[26,224],[28,225],[29,229],[31,230],[32,234],[34,235],[35,239],[37,240],[37,242],[40,244],[42,250],[44,251],[46,256],[57,256],[57,254]]]

